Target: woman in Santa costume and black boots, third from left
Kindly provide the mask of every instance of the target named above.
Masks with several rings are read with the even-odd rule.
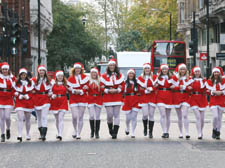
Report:
[[[39,139],[45,141],[48,130],[48,112],[50,108],[49,91],[51,89],[51,81],[47,76],[47,69],[44,65],[38,66],[37,72],[37,77],[32,79],[35,83],[35,95],[33,101],[40,132]]]

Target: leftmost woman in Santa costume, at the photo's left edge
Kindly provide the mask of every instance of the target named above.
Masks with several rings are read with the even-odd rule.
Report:
[[[5,142],[5,125],[6,139],[10,139],[10,114],[13,109],[13,87],[15,85],[14,78],[9,70],[9,64],[3,62],[0,72],[0,126],[1,126],[1,142]]]

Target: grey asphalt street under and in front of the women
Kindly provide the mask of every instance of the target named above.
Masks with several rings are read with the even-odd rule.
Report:
[[[197,140],[195,117],[190,118],[191,140],[178,139],[178,127],[175,111],[172,112],[170,139],[162,140],[159,123],[159,112],[156,111],[154,139],[143,136],[141,112],[138,115],[136,139],[124,133],[125,115],[121,114],[121,127],[117,140],[108,135],[106,114],[103,109],[100,139],[90,139],[88,112],[85,113],[84,128],[81,140],[72,139],[73,132],[71,114],[65,116],[63,141],[55,139],[54,118],[49,115],[47,142],[38,141],[37,125],[32,118],[30,142],[18,143],[15,114],[12,115],[12,137],[10,141],[0,144],[1,168],[27,167],[224,167],[225,134],[224,122],[222,140],[211,139],[211,114],[206,113],[204,140]],[[25,129],[24,129],[25,131]],[[24,132],[25,135],[25,132]]]

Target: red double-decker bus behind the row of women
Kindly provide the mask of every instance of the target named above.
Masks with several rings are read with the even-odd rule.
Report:
[[[186,45],[183,41],[153,41],[150,52],[155,73],[161,64],[168,64],[172,71],[178,64],[186,64]]]

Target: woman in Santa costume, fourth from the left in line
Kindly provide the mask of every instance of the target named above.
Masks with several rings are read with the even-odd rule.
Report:
[[[67,102],[67,82],[63,71],[57,71],[54,79],[51,81],[50,91],[50,112],[54,114],[56,120],[57,136],[56,139],[62,141],[62,132],[64,127],[64,114],[68,111]]]

